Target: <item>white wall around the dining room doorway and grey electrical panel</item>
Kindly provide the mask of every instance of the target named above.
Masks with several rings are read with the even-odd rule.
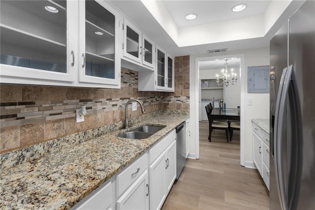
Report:
[[[256,48],[256,49],[244,49],[244,50],[231,50],[221,53],[216,53],[213,56],[221,55],[233,55],[244,54],[245,57],[245,75],[241,75],[241,79],[247,81],[247,67],[251,66],[265,66],[269,65],[269,47]],[[195,96],[195,89],[198,88],[198,84],[195,84],[195,59],[198,57],[206,57],[209,54],[190,55],[190,123],[195,125],[198,123],[195,113],[195,103],[198,101],[198,96]],[[245,82],[245,102],[248,98],[252,99],[252,105],[246,105],[245,108],[245,166],[253,167],[252,162],[252,118],[269,118],[269,94],[249,94],[247,93],[247,82]],[[196,142],[194,126],[190,126],[191,136],[190,139],[190,153],[189,157],[193,157],[196,154]],[[198,132],[199,133],[199,132]]]

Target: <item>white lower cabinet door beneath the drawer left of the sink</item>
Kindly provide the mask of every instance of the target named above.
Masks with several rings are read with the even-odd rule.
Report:
[[[149,174],[146,170],[117,200],[117,210],[149,209]]]

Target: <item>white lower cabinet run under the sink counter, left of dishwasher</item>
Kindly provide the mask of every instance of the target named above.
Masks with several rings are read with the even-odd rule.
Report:
[[[158,210],[175,179],[176,132],[173,130],[72,209]]]

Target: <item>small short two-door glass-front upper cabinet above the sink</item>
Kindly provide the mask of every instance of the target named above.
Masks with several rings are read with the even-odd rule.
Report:
[[[136,71],[154,70],[154,42],[126,19],[124,19],[123,34],[122,66]]]

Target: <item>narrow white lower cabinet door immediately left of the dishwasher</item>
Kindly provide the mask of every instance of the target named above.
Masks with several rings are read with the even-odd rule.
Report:
[[[176,140],[166,149],[166,192],[172,188],[176,179]]]

